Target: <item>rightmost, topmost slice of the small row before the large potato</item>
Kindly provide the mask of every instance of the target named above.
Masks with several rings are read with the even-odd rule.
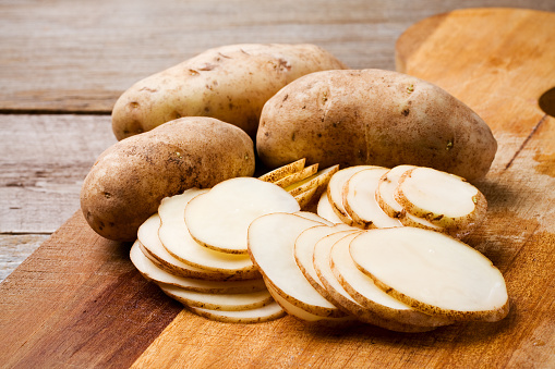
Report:
[[[407,212],[449,230],[466,230],[485,218],[484,195],[464,179],[432,168],[405,172],[394,197]]]

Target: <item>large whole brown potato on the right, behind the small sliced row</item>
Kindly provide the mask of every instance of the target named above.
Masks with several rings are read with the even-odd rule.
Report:
[[[422,79],[382,70],[303,76],[264,106],[256,149],[268,168],[431,167],[483,177],[497,142],[468,106]]]

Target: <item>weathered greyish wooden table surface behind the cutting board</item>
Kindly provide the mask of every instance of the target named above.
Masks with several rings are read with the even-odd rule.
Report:
[[[459,8],[553,0],[0,0],[0,281],[79,209],[137,79],[207,48],[313,42],[353,69],[395,69],[411,24]]]

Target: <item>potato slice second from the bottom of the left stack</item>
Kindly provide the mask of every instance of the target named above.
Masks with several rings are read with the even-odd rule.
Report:
[[[164,293],[183,305],[210,310],[238,311],[255,309],[274,302],[267,290],[245,294],[207,294],[159,284]]]

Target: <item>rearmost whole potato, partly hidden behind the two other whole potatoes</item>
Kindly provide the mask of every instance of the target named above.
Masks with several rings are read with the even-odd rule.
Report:
[[[181,116],[213,116],[255,137],[262,107],[311,72],[345,69],[314,45],[230,45],[209,49],[129,88],[116,102],[118,139]]]

